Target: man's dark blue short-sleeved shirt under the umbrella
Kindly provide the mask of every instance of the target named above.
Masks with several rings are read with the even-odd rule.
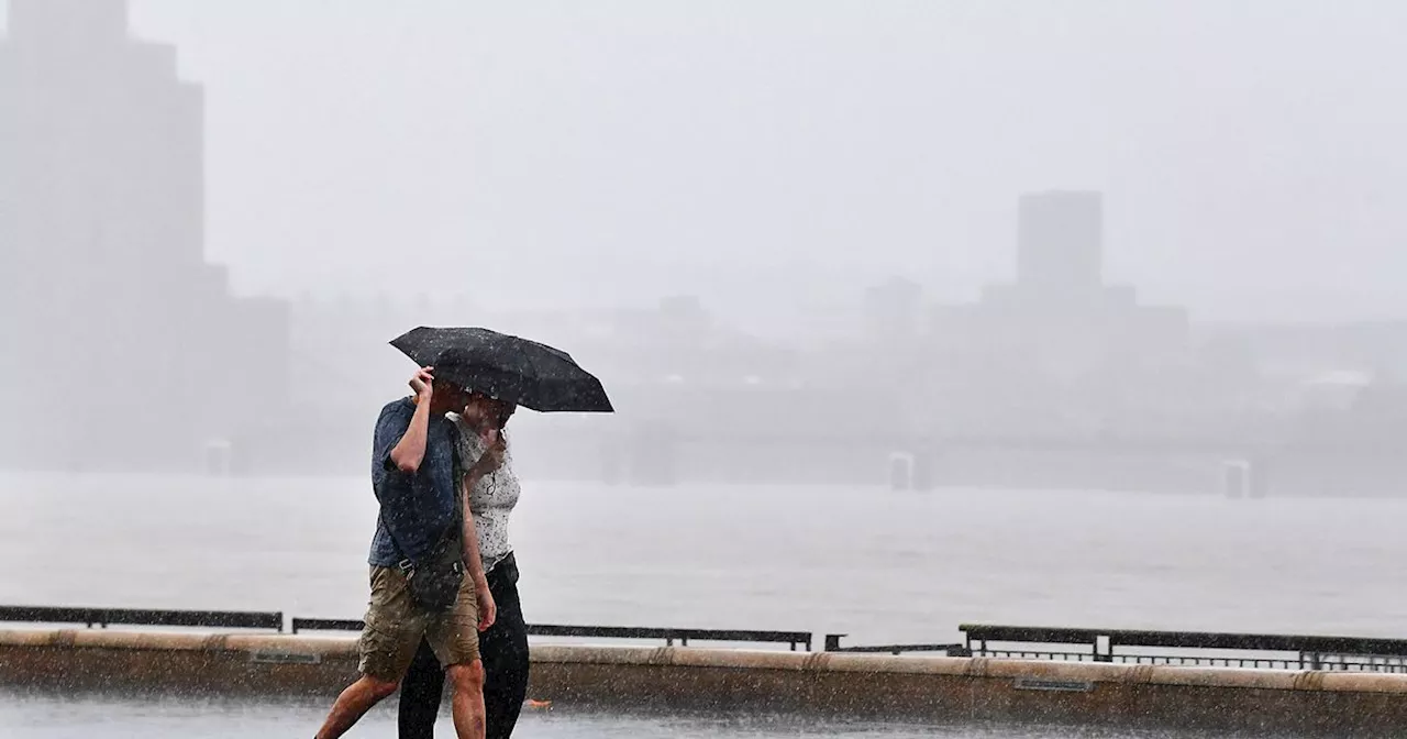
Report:
[[[394,567],[404,559],[418,560],[439,541],[445,528],[454,524],[459,431],[443,415],[431,415],[425,460],[415,474],[407,474],[391,462],[391,449],[411,428],[412,415],[415,403],[401,398],[387,403],[376,419],[371,490],[381,503],[381,515],[376,521],[367,562],[380,567]]]

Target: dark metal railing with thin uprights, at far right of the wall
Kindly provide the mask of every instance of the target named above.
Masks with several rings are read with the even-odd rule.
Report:
[[[982,657],[1407,673],[1407,640],[1403,639],[985,624],[964,624],[960,631],[967,653]],[[993,642],[1014,648],[998,649]],[[1069,645],[1088,645],[1088,649],[1059,649]],[[1168,653],[1172,650],[1179,653]]]

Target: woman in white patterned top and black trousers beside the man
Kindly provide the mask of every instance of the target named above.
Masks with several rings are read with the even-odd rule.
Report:
[[[508,542],[508,518],[521,486],[504,428],[516,408],[474,393],[463,414],[450,414],[459,428],[459,453],[467,505],[473,514],[484,586],[497,614],[478,635],[484,660],[484,715],[487,739],[514,732],[528,697],[528,625],[518,601],[518,563]],[[480,595],[480,601],[485,601]],[[411,670],[401,681],[401,739],[431,739],[439,715],[445,673],[428,643],[421,643]]]

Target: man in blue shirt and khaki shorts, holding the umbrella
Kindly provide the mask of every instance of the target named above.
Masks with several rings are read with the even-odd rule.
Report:
[[[411,377],[412,398],[381,408],[371,450],[371,488],[381,504],[371,539],[371,600],[362,631],[362,677],[338,697],[318,739],[346,733],[366,712],[395,693],[421,640],[429,643],[453,686],[452,712],[460,739],[484,738],[484,666],[478,656],[478,629],[492,619],[492,600],[476,597],[483,563],[474,543],[473,518],[461,511],[456,465],[457,431],[445,418],[464,408],[470,394],[438,381],[433,367]],[[409,591],[407,571],[443,536],[456,539],[469,573],[461,579],[453,607],[431,611]],[[484,600],[483,609],[478,600]],[[478,618],[480,611],[484,619]]]

